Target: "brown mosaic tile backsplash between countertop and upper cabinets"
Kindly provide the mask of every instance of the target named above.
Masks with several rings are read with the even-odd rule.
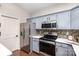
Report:
[[[79,30],[37,30],[38,35],[44,35],[45,33],[57,34],[58,37],[67,39],[68,36],[72,36],[72,40],[79,43]]]

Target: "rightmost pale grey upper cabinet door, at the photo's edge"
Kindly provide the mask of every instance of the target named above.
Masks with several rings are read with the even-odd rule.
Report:
[[[79,29],[79,7],[71,11],[71,29]]]

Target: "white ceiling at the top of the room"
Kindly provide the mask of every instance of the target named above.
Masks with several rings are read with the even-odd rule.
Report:
[[[19,3],[21,8],[25,9],[30,14],[39,12],[41,9],[55,5],[56,3]]]

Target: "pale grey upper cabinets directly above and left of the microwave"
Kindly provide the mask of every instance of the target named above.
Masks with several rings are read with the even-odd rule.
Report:
[[[53,22],[56,20],[56,14],[35,18],[36,29],[41,29],[42,23]]]

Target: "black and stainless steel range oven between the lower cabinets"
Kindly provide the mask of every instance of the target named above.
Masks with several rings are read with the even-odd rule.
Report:
[[[39,41],[39,49],[40,53],[47,55],[55,56],[55,40],[57,39],[57,36],[54,35],[44,35],[44,37],[40,38]]]

